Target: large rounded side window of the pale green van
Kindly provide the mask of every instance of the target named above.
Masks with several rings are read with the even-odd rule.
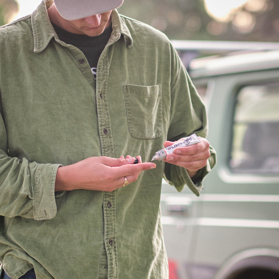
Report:
[[[239,91],[229,165],[235,173],[279,173],[279,83]]]

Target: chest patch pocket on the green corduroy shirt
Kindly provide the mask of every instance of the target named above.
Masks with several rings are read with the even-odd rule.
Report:
[[[160,85],[124,85],[130,135],[155,139],[162,135],[162,90]]]

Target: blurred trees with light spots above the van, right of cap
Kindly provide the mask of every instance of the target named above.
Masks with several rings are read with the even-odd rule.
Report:
[[[278,0],[247,0],[226,21],[210,17],[205,0],[124,0],[118,11],[170,39],[278,41]]]

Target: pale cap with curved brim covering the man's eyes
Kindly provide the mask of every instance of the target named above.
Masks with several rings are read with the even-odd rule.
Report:
[[[54,0],[59,14],[65,20],[77,20],[116,9],[124,0]]]

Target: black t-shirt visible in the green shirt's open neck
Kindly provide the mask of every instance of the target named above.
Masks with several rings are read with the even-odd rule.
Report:
[[[98,60],[112,33],[112,24],[101,35],[95,37],[70,33],[54,23],[52,25],[61,41],[71,44],[83,52],[96,79]]]

